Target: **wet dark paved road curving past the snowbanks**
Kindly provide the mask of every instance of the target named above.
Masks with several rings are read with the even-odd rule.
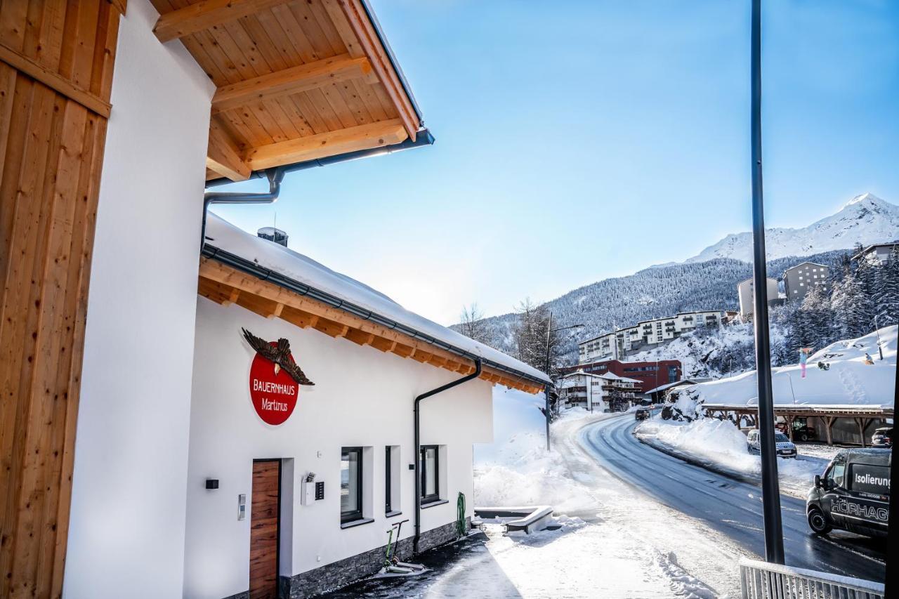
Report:
[[[635,426],[633,416],[601,420],[580,429],[579,443],[612,474],[764,555],[761,488],[656,451],[637,441]],[[884,580],[885,543],[850,532],[816,537],[806,524],[805,501],[780,496],[780,505],[789,566]]]

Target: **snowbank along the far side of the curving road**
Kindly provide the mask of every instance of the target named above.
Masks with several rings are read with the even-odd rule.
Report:
[[[746,435],[728,420],[700,418],[687,423],[654,416],[637,426],[635,433],[646,443],[660,443],[669,451],[713,462],[726,471],[761,477],[760,456],[749,451]],[[814,475],[821,474],[828,461],[807,454],[778,458],[780,491],[805,498]]]

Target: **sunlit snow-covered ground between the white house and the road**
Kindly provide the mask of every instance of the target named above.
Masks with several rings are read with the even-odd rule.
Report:
[[[495,441],[476,445],[475,505],[553,505],[564,525],[531,535],[503,535],[488,525],[485,551],[460,560],[416,596],[736,596],[737,560],[749,555],[745,550],[635,494],[583,453],[577,431],[617,415],[566,410],[552,425],[547,452],[538,403],[494,389]]]

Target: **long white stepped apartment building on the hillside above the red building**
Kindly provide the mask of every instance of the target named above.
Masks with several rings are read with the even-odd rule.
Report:
[[[578,363],[621,360],[629,355],[666,344],[702,326],[721,326],[725,310],[679,312],[673,317],[643,320],[635,326],[593,337],[577,344]]]

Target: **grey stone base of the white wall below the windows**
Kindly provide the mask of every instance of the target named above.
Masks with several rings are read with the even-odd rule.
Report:
[[[471,518],[466,518],[466,530],[471,528]],[[430,531],[422,532],[419,550],[429,550],[450,541],[455,541],[456,523],[451,522]],[[360,578],[369,577],[384,565],[387,545],[365,551],[352,558],[341,559],[333,564],[303,572],[294,577],[280,577],[280,599],[300,599],[347,586]],[[396,555],[401,560],[412,556],[412,537],[396,544]]]

